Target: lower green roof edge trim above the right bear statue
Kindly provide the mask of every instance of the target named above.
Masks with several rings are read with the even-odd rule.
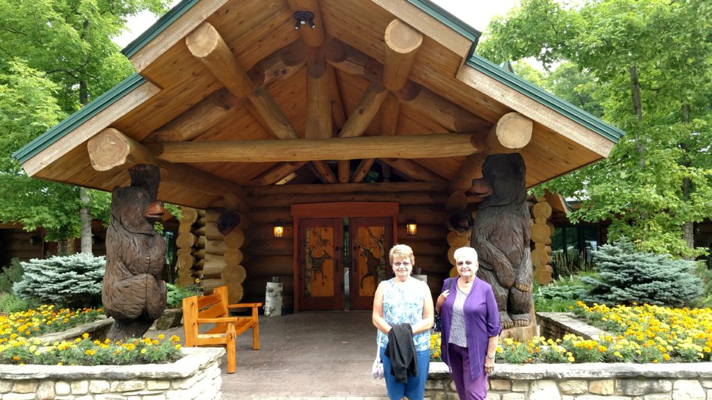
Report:
[[[599,135],[612,140],[612,142],[617,143],[618,140],[625,135],[625,132],[619,130],[617,127],[609,125],[598,117],[591,115],[579,107],[572,105],[570,102],[557,98],[555,95],[548,93],[546,90],[539,88],[538,86],[529,83],[528,81],[520,78],[519,76],[510,73],[499,65],[492,63],[486,58],[482,58],[476,54],[473,54],[465,60],[467,65],[472,68],[481,71],[490,78],[494,78],[501,83],[504,83],[508,87],[522,93],[528,98],[539,102],[552,110],[559,112],[561,115],[568,117],[570,120],[580,123],[581,125],[587,127],[588,129],[597,132]]]

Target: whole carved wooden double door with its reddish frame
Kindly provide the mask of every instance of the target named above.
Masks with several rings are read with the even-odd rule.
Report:
[[[349,214],[349,213],[346,213]],[[392,276],[395,216],[300,218],[295,237],[295,309],[371,310]]]

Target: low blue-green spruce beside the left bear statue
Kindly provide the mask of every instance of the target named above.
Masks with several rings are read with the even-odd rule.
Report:
[[[20,263],[22,280],[13,285],[16,295],[23,299],[38,298],[43,302],[85,307],[100,304],[101,286],[106,260],[91,254],[33,258]]]

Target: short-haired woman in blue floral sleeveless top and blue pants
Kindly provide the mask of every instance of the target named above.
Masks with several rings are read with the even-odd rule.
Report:
[[[415,256],[404,244],[393,246],[389,262],[394,278],[382,281],[373,300],[373,325],[378,328],[377,342],[383,362],[388,397],[400,400],[422,400],[430,366],[430,328],[433,326],[433,298],[426,283],[411,276]],[[407,382],[396,381],[386,354],[388,333],[392,325],[410,324],[415,349],[417,374],[409,373]],[[395,331],[394,331],[395,332]]]

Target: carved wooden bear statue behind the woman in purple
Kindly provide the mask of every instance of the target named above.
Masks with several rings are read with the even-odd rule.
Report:
[[[503,329],[530,324],[533,268],[529,248],[524,159],[518,153],[493,154],[478,184],[491,187],[480,204],[471,246],[479,258],[478,278],[492,285]]]

